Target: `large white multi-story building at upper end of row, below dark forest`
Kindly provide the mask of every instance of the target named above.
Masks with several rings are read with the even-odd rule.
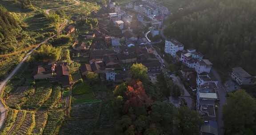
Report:
[[[176,56],[176,52],[184,50],[184,45],[178,40],[171,39],[165,40],[164,52],[171,54],[173,57]]]

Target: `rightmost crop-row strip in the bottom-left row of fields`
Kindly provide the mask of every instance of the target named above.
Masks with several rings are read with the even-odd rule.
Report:
[[[44,128],[43,135],[54,135],[56,127],[62,122],[64,119],[64,111],[56,110],[50,111],[48,113],[47,124]]]

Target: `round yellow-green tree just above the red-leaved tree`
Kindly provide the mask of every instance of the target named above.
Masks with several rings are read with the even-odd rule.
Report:
[[[148,79],[148,68],[143,64],[132,64],[131,74],[132,78],[145,80]]]

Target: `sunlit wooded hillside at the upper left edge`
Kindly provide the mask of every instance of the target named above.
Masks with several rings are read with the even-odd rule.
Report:
[[[11,51],[12,44],[16,43],[15,35],[19,33],[20,27],[13,16],[0,5],[0,54]]]

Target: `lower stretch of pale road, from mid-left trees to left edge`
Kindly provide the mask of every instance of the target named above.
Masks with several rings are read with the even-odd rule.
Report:
[[[54,35],[54,36],[56,36],[56,35]],[[32,49],[31,51],[28,52],[28,54],[23,58],[23,60],[21,60],[20,64],[18,64],[14,68],[14,70],[11,72],[11,74],[9,74],[8,77],[6,79],[4,79],[4,81],[1,82],[1,84],[0,84],[0,93],[3,92],[5,85],[12,78],[12,76],[20,69],[20,67],[24,63],[24,61],[26,61],[28,59],[28,56],[30,56],[30,54],[32,52],[34,52],[34,50],[36,50],[41,44],[46,43],[49,39],[53,38],[54,36],[49,37],[48,39],[44,40],[44,42],[38,44],[36,48],[34,48],[34,49]],[[0,101],[0,112],[1,112],[1,116],[0,116],[0,129],[1,129],[3,124],[4,124],[5,117],[6,117],[6,108],[4,107],[4,104],[2,103],[2,100]]]

